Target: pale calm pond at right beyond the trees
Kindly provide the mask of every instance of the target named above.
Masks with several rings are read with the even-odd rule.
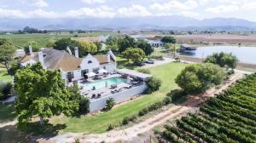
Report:
[[[239,62],[256,64],[256,47],[237,47],[237,46],[211,46],[199,47],[193,53],[179,53],[181,55],[192,56],[196,58],[206,58],[212,53],[232,53],[235,54]]]

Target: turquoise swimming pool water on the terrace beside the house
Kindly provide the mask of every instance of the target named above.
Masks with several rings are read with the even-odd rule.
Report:
[[[85,89],[90,90],[93,87],[96,89],[103,89],[106,88],[106,82],[108,83],[108,87],[110,87],[113,84],[119,84],[119,83],[126,83],[125,78],[120,78],[120,77],[112,77],[108,79],[102,79],[96,82],[91,82],[91,83],[86,83],[85,84]]]

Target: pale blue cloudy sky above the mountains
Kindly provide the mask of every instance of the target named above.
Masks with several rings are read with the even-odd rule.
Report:
[[[0,18],[113,18],[179,14],[256,21],[255,0],[1,0]]]

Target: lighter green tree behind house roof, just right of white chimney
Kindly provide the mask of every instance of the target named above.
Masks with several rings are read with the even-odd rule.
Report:
[[[96,44],[90,41],[79,41],[79,48],[79,54],[82,55],[95,54],[97,51]]]

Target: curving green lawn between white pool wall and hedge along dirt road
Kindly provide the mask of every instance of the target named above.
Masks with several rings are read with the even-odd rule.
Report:
[[[96,116],[84,116],[84,117],[53,117],[51,123],[54,124],[66,124],[67,128],[62,129],[61,132],[73,132],[73,133],[102,133],[108,129],[108,125],[119,124],[124,117],[137,114],[137,112],[144,107],[153,104],[156,101],[163,100],[167,93],[172,89],[177,89],[177,84],[174,83],[175,77],[181,72],[185,64],[181,63],[169,63],[163,66],[156,66],[150,69],[152,75],[160,77],[163,81],[159,91],[153,94],[144,95],[141,98],[137,98],[128,102],[122,106],[113,108],[109,112],[102,112]]]

